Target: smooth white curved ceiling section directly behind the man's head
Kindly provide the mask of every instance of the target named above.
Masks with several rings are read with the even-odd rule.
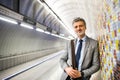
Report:
[[[97,36],[97,17],[102,11],[102,0],[44,0],[60,17],[67,27],[72,28],[72,20],[82,17],[87,23],[87,34]],[[94,34],[94,35],[93,35]]]

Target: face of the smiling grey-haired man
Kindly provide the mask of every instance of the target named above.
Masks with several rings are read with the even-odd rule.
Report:
[[[78,37],[80,38],[84,37],[86,30],[84,22],[82,21],[74,22],[73,27]]]

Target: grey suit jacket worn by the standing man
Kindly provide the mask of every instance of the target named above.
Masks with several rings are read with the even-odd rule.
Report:
[[[77,39],[74,40],[75,46],[77,43]],[[60,59],[60,64],[63,70],[66,67],[72,66],[71,62],[71,46],[70,41],[67,44],[67,48],[65,53]],[[86,43],[85,43],[85,49],[83,54],[83,60],[82,60],[82,66],[81,70],[84,73],[86,80],[89,80],[91,75],[98,71],[100,68],[100,60],[99,60],[99,52],[98,52],[98,42],[96,40],[93,40],[89,37],[86,37]],[[63,73],[61,80],[65,80],[68,75]]]

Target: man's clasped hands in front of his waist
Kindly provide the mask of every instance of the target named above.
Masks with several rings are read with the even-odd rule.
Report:
[[[65,71],[71,78],[81,77],[81,72],[73,69],[72,67],[65,68]]]

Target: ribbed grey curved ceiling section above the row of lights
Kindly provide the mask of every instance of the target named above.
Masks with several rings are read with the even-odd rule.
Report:
[[[34,19],[46,27],[52,28],[57,34],[70,36],[70,33],[66,32],[62,27],[62,24],[42,3],[38,3],[37,0],[20,0],[20,13]]]

